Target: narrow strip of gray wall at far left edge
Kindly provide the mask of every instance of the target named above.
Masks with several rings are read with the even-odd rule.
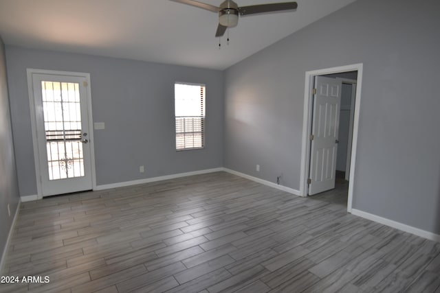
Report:
[[[14,158],[5,49],[0,38],[0,259],[19,204]],[[8,204],[10,204],[10,216]]]

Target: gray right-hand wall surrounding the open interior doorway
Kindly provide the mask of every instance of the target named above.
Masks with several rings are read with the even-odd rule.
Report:
[[[230,67],[225,167],[299,189],[305,72],[362,62],[353,208],[440,234],[439,11],[358,0]]]

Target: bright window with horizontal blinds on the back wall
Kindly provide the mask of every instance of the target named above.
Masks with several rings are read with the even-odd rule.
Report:
[[[203,148],[205,124],[205,85],[174,85],[176,150]]]

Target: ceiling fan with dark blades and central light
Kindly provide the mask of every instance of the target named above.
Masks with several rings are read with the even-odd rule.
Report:
[[[284,2],[284,3],[270,3],[239,7],[237,3],[232,0],[225,0],[219,7],[201,3],[194,0],[170,0],[174,2],[184,3],[198,8],[206,9],[219,14],[219,26],[215,36],[223,36],[228,27],[235,27],[239,23],[239,15],[259,14],[267,12],[276,12],[282,10],[296,10],[298,3]]]

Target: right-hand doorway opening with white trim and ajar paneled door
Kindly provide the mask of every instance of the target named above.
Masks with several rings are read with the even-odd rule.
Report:
[[[337,201],[346,196],[349,213],[361,89],[362,64],[306,72],[300,196],[331,190]]]

